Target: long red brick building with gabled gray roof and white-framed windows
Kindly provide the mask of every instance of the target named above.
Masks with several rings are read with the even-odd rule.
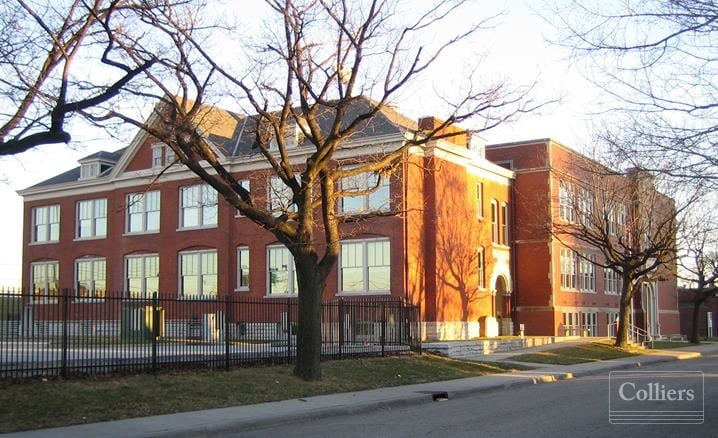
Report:
[[[289,208],[281,184],[252,149],[251,118],[220,111],[214,121],[208,139],[256,202]],[[336,152],[336,164],[395,150],[436,122],[384,108]],[[618,297],[604,292],[598,273],[592,294],[561,290],[559,245],[532,228],[539,212],[520,202],[556,191],[550,156],[573,152],[551,141],[486,151],[485,157],[479,139],[466,135],[411,147],[378,191],[344,198],[342,214],[396,214],[342,226],[340,259],[324,298],[409,300],[421,307],[427,339],[512,334],[519,323],[527,334],[573,334],[580,327],[605,335]],[[309,153],[297,136],[293,160],[301,165]],[[173,165],[159,176],[173,160],[170,149],[141,132],[124,149],[85,157],[79,167],[20,191],[23,287],[34,291],[32,305],[65,288],[74,291],[75,305],[153,292],[187,300],[297,296],[288,250],[186,168]],[[361,190],[376,185],[376,176],[346,184]],[[655,296],[662,330],[677,332],[675,282],[658,285]]]

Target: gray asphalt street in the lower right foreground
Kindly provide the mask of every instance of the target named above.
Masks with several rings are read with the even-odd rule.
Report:
[[[608,373],[484,392],[401,408],[384,408],[256,430],[233,437],[718,437],[718,354],[646,366],[641,371],[702,371],[703,424],[609,423]]]

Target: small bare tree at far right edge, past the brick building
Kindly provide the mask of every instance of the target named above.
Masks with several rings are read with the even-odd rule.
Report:
[[[698,343],[701,306],[718,293],[718,229],[713,214],[712,211],[694,214],[683,223],[680,233],[682,248],[678,272],[679,278],[688,283],[687,290],[693,295],[692,343]]]

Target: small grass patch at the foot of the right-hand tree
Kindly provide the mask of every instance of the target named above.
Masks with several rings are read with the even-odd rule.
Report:
[[[536,353],[520,354],[518,356],[512,356],[509,359],[519,362],[574,365],[577,363],[618,359],[621,357],[635,356],[637,354],[641,354],[641,350],[621,350],[608,342],[591,342],[575,347],[554,348]]]

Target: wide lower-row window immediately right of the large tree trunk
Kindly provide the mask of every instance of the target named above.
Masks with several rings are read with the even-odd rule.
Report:
[[[390,251],[389,239],[342,242],[340,292],[389,292]]]

